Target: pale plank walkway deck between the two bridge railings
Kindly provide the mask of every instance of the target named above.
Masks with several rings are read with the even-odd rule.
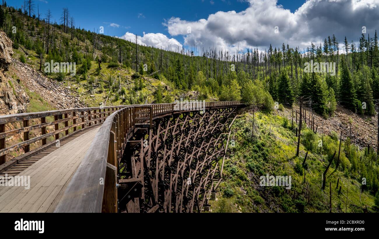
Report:
[[[99,126],[83,130],[60,147],[41,152],[42,158],[8,169],[8,176],[30,176],[30,188],[0,186],[0,213],[53,212],[98,130]]]

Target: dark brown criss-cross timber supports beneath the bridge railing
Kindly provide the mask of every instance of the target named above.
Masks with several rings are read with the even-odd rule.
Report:
[[[236,107],[174,112],[137,130],[121,158],[119,209],[200,212],[221,182]]]

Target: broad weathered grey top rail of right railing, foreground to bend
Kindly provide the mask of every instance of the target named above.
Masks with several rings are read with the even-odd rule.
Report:
[[[115,147],[114,145],[120,145],[119,138],[114,137],[113,131],[114,126],[123,125],[121,115],[128,111],[128,108],[130,107],[117,110],[105,119],[77,171],[70,180],[55,212],[101,212],[105,185],[108,186],[107,190],[114,189],[111,193],[116,193],[116,182],[109,184],[110,179],[114,181],[114,177],[110,176],[117,174],[117,166],[115,165],[118,160],[118,157],[115,158],[117,146]],[[120,128],[118,127],[117,130]],[[122,140],[125,141],[125,138],[122,137]],[[112,164],[108,163],[109,157],[113,157],[113,160],[110,160]],[[101,183],[101,180],[103,180],[103,183]],[[110,185],[113,185],[113,187]],[[116,203],[117,206],[117,201],[113,203]],[[113,208],[111,211],[114,210],[117,210],[117,208]]]

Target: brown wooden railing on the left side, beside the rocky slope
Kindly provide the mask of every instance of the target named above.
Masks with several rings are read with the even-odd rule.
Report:
[[[55,144],[57,140],[63,140],[79,132],[78,129],[102,123],[111,113],[122,107],[125,106],[51,110],[0,116],[0,172],[6,169],[1,166],[6,163],[6,155],[22,149],[23,154],[12,159],[22,161],[23,158],[30,157]],[[16,126],[15,129],[6,127],[8,123],[13,123]],[[17,127],[17,124],[20,127]],[[7,137],[18,134],[23,134],[22,142],[12,143],[6,141]],[[49,137],[54,137],[55,140],[50,139],[48,141]],[[30,147],[31,144],[35,147],[33,150]],[[9,168],[14,163],[13,161],[6,167]]]

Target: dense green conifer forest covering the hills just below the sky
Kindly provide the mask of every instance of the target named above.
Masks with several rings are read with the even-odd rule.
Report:
[[[138,74],[150,75],[172,82],[177,89],[199,91],[203,99],[242,98],[249,101],[248,94],[241,89],[257,85],[269,92],[274,101],[288,106],[296,97],[310,96],[310,107],[325,117],[334,114],[336,102],[359,114],[373,115],[375,100],[379,99],[376,31],[371,37],[362,34],[357,43],[345,37],[342,50],[340,40],[333,35],[327,36],[319,46],[312,43],[302,50],[283,43],[274,48],[270,45],[268,50],[254,48],[228,52],[194,47],[168,51],[141,46],[138,39],[127,41],[79,29],[67,8],[63,9],[61,21],[57,23],[52,22],[50,11],[39,12],[33,1],[26,1],[25,6],[14,9],[4,3],[0,25],[13,40],[14,48],[22,45],[36,51],[40,70],[44,62],[51,60],[76,62],[80,65],[80,76],[86,79],[94,62],[108,62],[111,66],[133,69],[137,78]],[[25,18],[27,24],[23,22]],[[16,26],[16,33],[13,26]],[[336,62],[337,74],[304,73],[305,62],[311,60]],[[62,73],[56,77],[66,78]]]

